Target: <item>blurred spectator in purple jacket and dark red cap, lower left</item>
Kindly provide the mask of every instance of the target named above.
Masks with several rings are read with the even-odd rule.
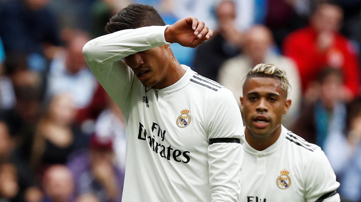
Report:
[[[113,163],[113,140],[93,135],[90,149],[74,154],[68,167],[75,176],[77,195],[95,194],[103,202],[120,202],[123,172]]]

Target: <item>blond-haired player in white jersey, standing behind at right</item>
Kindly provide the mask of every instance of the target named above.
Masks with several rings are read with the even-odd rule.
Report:
[[[273,64],[249,70],[240,98],[245,120],[239,201],[339,202],[325,153],[281,125],[291,106],[286,73]]]

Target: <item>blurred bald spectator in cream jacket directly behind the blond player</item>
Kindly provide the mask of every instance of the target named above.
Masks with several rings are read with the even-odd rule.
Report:
[[[282,68],[292,86],[288,98],[292,100],[291,108],[283,119],[283,125],[291,127],[298,116],[300,105],[300,78],[293,61],[271,52],[273,43],[271,32],[265,26],[254,26],[245,34],[244,54],[226,60],[219,70],[218,81],[230,89],[240,106],[242,96],[242,80],[249,69],[258,63],[273,63]]]

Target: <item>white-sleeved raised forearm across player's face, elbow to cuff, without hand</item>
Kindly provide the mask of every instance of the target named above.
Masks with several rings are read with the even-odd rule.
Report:
[[[128,55],[169,44],[164,37],[166,27],[140,27],[97,37],[84,45],[84,57],[91,68],[109,66]]]

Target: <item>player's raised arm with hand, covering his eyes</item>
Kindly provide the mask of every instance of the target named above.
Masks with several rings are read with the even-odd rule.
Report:
[[[122,58],[173,42],[196,47],[212,36],[213,31],[208,30],[204,22],[195,17],[187,17],[170,26],[121,30],[97,37],[84,45],[83,54],[100,84],[123,113],[126,113],[136,78]]]

